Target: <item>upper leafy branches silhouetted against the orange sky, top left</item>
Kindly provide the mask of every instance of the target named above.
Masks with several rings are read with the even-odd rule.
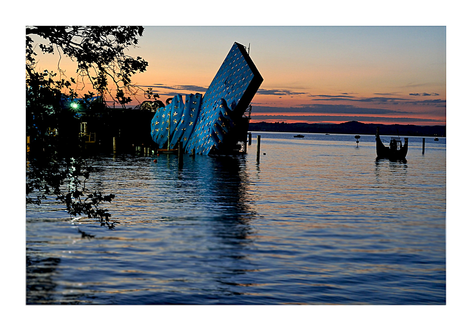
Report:
[[[34,75],[37,55],[34,52],[32,35],[42,37],[43,53],[65,55],[77,62],[76,73],[92,83],[99,95],[108,94],[122,107],[131,101],[139,88],[131,83],[131,76],[146,70],[148,63],[141,57],[125,54],[130,47],[136,47],[138,36],[143,35],[142,26],[30,26],[26,28],[26,75]],[[60,62],[60,60],[59,60]],[[58,67],[60,63],[58,64]],[[59,68],[59,73],[64,74]],[[80,79],[79,78],[79,79]],[[72,83],[75,81],[71,78]],[[109,82],[111,87],[109,86]],[[64,81],[68,87],[68,81]],[[84,83],[85,84],[85,83]],[[115,88],[112,95],[110,89]],[[90,92],[89,92],[90,93]],[[74,95],[72,95],[74,96]]]

